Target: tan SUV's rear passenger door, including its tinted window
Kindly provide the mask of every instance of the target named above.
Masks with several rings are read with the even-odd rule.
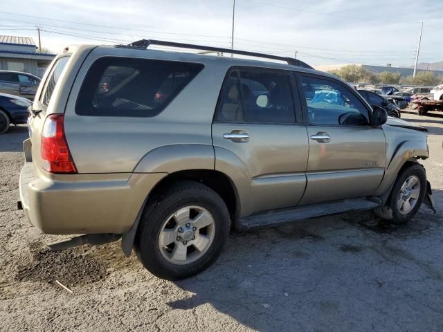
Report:
[[[305,191],[307,131],[293,74],[234,67],[213,122],[215,169],[235,178],[242,215],[296,205]]]

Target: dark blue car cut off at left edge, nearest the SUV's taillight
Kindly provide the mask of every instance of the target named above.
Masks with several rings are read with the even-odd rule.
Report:
[[[10,124],[26,123],[30,104],[30,100],[18,95],[0,93],[0,133],[6,133]]]

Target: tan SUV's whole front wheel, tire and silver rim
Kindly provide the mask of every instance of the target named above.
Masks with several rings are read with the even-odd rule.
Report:
[[[381,219],[403,224],[415,216],[426,193],[426,172],[420,164],[411,165],[398,176],[386,205],[375,210]]]

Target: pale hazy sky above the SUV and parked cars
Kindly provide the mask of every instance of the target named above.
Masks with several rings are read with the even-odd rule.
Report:
[[[1,0],[0,34],[33,37],[60,52],[68,44],[141,38],[230,47],[232,0]],[[235,48],[297,57],[311,65],[411,66],[443,60],[440,0],[236,0]]]

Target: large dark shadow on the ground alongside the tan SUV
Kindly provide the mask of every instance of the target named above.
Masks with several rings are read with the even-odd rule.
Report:
[[[435,196],[442,201],[443,192],[435,190]],[[432,257],[416,257],[431,254],[429,243],[440,241],[441,215],[423,207],[413,223],[401,227],[377,225],[371,214],[363,215],[341,214],[231,234],[215,265],[175,283],[193,295],[168,306],[203,312],[209,304],[258,331],[435,326],[432,311],[440,310],[442,299],[422,307],[415,322],[399,329],[401,317],[408,317],[411,306],[417,308],[415,296],[423,287],[437,291],[443,282],[440,261],[433,267],[426,263]],[[415,243],[411,252],[410,243]],[[420,250],[425,252],[418,254]],[[211,318],[207,320],[211,324]]]

